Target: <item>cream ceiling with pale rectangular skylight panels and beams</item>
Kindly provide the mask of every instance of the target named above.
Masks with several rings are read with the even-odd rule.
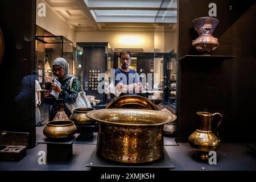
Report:
[[[76,31],[150,30],[155,23],[176,27],[177,0],[44,0]]]

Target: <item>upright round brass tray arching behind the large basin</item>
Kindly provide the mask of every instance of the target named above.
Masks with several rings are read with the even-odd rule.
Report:
[[[142,96],[121,96],[115,98],[109,102],[105,107],[106,109],[148,109],[148,110],[159,110],[156,105]]]

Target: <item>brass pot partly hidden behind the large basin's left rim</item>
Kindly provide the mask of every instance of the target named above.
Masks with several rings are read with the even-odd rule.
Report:
[[[85,125],[85,124],[92,123],[92,119],[86,117],[86,113],[93,110],[95,109],[88,108],[88,107],[75,109],[69,119],[75,122],[76,125]]]

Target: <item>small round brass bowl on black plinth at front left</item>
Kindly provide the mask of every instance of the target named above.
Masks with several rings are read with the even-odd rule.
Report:
[[[76,134],[77,127],[73,121],[50,121],[44,127],[43,133],[48,138],[63,139]]]

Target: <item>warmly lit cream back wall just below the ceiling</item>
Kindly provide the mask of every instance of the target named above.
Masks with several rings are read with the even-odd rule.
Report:
[[[139,29],[139,28],[138,28]],[[176,32],[167,31],[84,31],[76,32],[76,42],[108,42],[115,48],[138,48],[144,52],[170,52],[176,47]],[[157,42],[157,44],[155,44]]]

